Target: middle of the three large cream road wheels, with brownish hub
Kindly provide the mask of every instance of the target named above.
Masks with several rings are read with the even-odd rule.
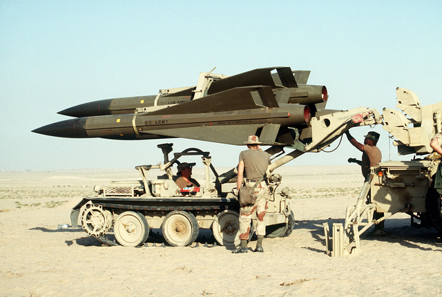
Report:
[[[200,227],[195,215],[187,211],[171,211],[162,223],[164,239],[172,247],[185,247],[198,237]]]

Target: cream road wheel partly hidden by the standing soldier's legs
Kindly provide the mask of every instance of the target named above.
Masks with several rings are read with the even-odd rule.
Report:
[[[226,247],[240,245],[240,215],[236,211],[218,213],[212,224],[215,240]],[[250,234],[253,234],[251,231]]]

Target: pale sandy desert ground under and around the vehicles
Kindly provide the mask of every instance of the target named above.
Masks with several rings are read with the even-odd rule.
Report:
[[[385,222],[389,236],[363,236],[361,253],[326,255],[323,222],[343,222],[356,202],[357,166],[279,172],[294,191],[294,231],[265,238],[265,253],[239,255],[213,247],[211,233],[197,239],[199,247],[129,248],[57,229],[70,224],[70,209],[94,184],[137,178],[133,169],[0,172],[0,296],[442,295],[441,238],[411,227],[407,215]]]

